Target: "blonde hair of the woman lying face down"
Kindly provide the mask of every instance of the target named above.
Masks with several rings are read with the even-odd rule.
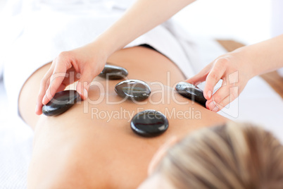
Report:
[[[283,147],[250,124],[205,128],[170,148],[156,169],[175,188],[283,188]]]

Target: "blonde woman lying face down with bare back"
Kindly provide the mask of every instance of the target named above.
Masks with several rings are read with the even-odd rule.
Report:
[[[144,104],[120,102],[121,97],[114,91],[120,81],[96,78],[96,85],[89,90],[89,102],[101,98],[99,104],[85,100],[60,116],[38,117],[33,113],[39,78],[50,64],[36,71],[23,86],[20,114],[34,128],[27,188],[137,188],[146,179],[153,155],[170,138],[179,140],[199,128],[227,121],[174,92],[172,87],[184,79],[182,73],[157,51],[144,47],[122,49],[108,62],[127,68],[129,79],[147,81],[151,98]],[[153,85],[157,82],[168,86]],[[99,85],[108,91],[102,92]],[[109,104],[106,96],[108,102],[120,103]],[[169,128],[165,133],[143,138],[130,128],[134,114],[119,118],[99,116],[99,112],[122,114],[120,109],[134,114],[145,109],[173,114],[166,114]],[[191,116],[180,118],[184,116],[180,113],[189,111]],[[179,116],[175,115],[177,112]],[[282,174],[272,171],[273,167],[282,166],[277,159],[282,159],[281,148],[277,140],[257,128],[222,126],[197,131],[165,152],[140,188],[253,188],[256,181],[280,185]]]

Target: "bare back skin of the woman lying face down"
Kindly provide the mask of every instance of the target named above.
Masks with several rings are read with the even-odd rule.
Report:
[[[108,62],[127,68],[129,79],[149,83],[151,96],[144,101],[146,104],[120,102],[121,98],[114,91],[120,80],[109,81],[109,91],[103,92],[98,86],[106,87],[106,80],[95,78],[96,83],[89,87],[89,96],[84,102],[75,104],[61,116],[37,116],[34,114],[37,91],[50,63],[36,71],[23,86],[20,114],[34,129],[27,188],[137,188],[146,179],[153,154],[166,140],[226,122],[222,116],[174,92],[175,84],[184,77],[174,63],[158,52],[144,47],[122,49],[110,56]],[[109,105],[106,95],[110,102],[120,103]],[[99,104],[89,101],[94,102],[99,97],[103,97]],[[161,102],[162,99],[165,101]],[[134,114],[141,111],[138,108],[155,109],[163,114],[166,109],[181,113],[191,109],[201,117],[168,116],[168,130],[156,138],[135,135],[129,122],[132,116],[110,120],[92,117],[92,109],[111,112],[120,111],[121,107]],[[84,112],[86,110],[88,112]]]

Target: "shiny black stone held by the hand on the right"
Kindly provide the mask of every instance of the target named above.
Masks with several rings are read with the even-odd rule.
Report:
[[[187,82],[180,82],[176,86],[177,92],[179,92],[183,97],[191,99],[203,106],[206,106],[206,98],[203,96],[203,91],[198,87],[191,85]]]

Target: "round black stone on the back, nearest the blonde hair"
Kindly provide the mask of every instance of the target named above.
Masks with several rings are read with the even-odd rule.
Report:
[[[134,133],[143,137],[155,137],[168,129],[168,119],[159,111],[146,110],[136,114],[131,121]]]

